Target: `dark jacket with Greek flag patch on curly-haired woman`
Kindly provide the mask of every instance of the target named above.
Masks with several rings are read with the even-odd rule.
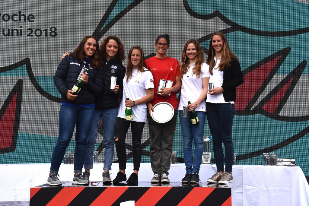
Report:
[[[102,73],[104,77],[104,87],[102,95],[95,98],[95,109],[103,110],[118,107],[119,99],[122,98],[122,80],[125,77],[125,67],[122,65],[121,61],[114,59],[107,61],[104,59]],[[119,90],[116,94],[110,90],[112,76],[117,78],[116,84],[119,85]]]

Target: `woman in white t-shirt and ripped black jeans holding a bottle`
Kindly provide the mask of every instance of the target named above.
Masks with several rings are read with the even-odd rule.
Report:
[[[133,173],[127,183],[138,183],[138,170],[142,159],[142,132],[147,120],[146,103],[154,97],[154,83],[151,72],[144,67],[144,52],[141,47],[133,46],[128,55],[126,76],[123,79],[122,102],[119,106],[116,128],[115,144],[119,162],[119,172],[113,183],[127,180],[125,137],[131,124],[133,146]],[[129,100],[126,100],[129,98]],[[126,121],[125,108],[131,107],[133,121]]]

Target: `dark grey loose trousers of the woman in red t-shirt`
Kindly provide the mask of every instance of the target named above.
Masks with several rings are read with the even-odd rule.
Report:
[[[168,174],[167,171],[171,167],[177,109],[174,109],[174,116],[166,123],[158,123],[153,120],[149,111],[147,112],[147,118],[150,136],[151,169],[154,174]]]

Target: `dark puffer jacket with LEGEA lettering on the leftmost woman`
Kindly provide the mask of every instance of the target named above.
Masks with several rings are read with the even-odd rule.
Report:
[[[73,100],[66,98],[68,90],[72,90],[82,68],[89,69],[87,84],[84,84],[78,96]],[[103,90],[103,76],[99,69],[92,69],[90,65],[79,62],[72,55],[66,56],[58,65],[54,75],[54,83],[61,94],[61,101],[74,104],[95,103],[95,96],[100,95]]]

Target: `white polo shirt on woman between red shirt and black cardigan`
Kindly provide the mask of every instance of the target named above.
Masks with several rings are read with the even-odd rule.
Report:
[[[203,91],[202,78],[209,78],[209,65],[203,63],[201,66],[201,76],[196,77],[196,74],[192,73],[193,63],[190,68],[187,68],[187,73],[184,74],[181,80],[181,94],[180,94],[180,103],[178,106],[179,110],[183,110],[183,106],[188,105],[188,101],[191,103],[196,102],[200,97]],[[195,109],[195,111],[206,111],[205,99],[200,103],[200,106]]]

